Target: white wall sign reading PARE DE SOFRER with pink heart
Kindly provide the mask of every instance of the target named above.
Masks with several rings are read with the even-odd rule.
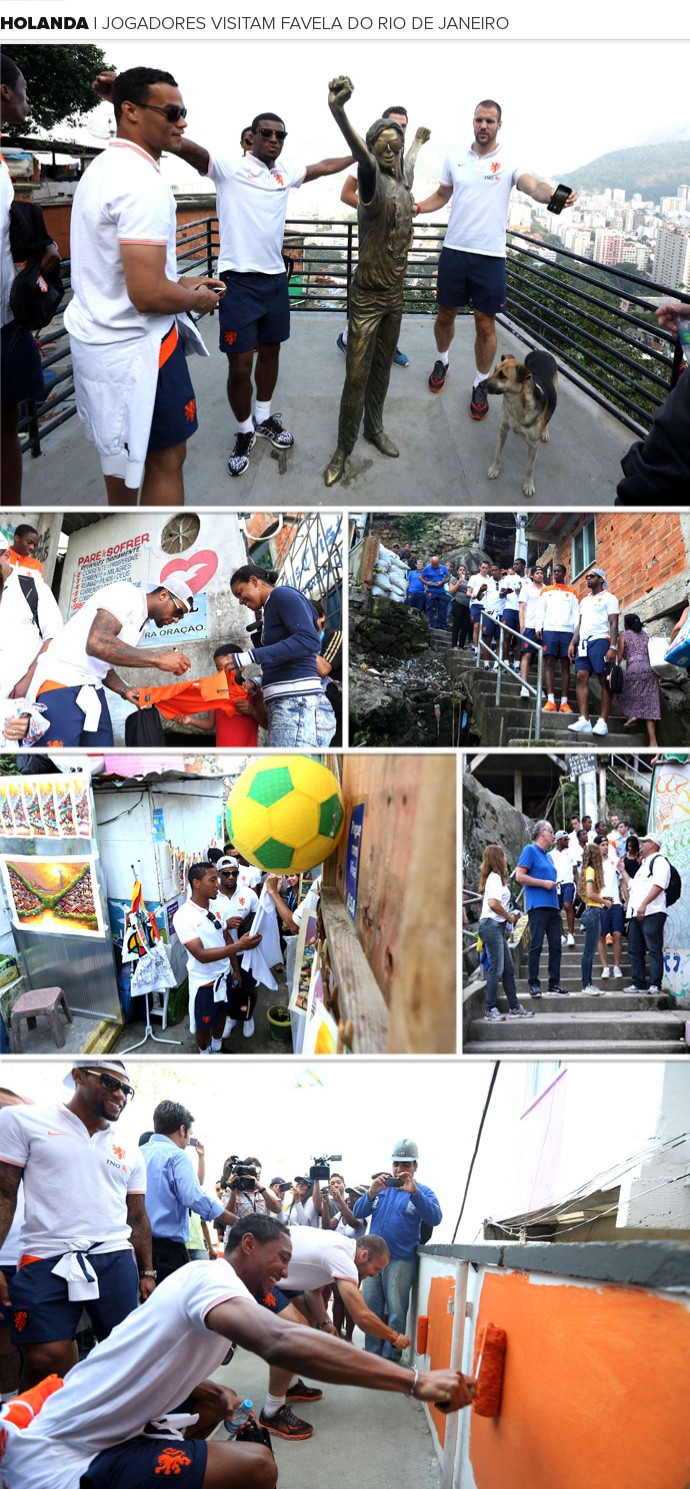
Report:
[[[140,560],[145,557],[145,549],[151,546],[149,533],[137,533],[136,538],[124,538],[119,543],[110,543],[109,548],[95,548],[89,554],[82,554],[77,558],[76,573],[72,581],[69,618],[80,610],[86,600],[91,600],[98,590],[103,590],[106,584],[119,584],[122,581],[131,581],[137,585],[142,584],[142,564]],[[215,569],[218,558],[215,554],[195,552],[200,570]],[[212,560],[213,563],[210,563]],[[137,578],[133,581],[133,569],[137,564]],[[191,555],[180,560],[179,570],[180,576],[189,579],[188,570],[191,564]],[[159,584],[174,584],[174,560],[168,561],[159,575]],[[149,579],[149,584],[155,584],[155,576]],[[209,637],[207,610],[206,610],[206,594],[194,596],[194,610],[191,615],[177,621],[174,627],[165,627],[165,640],[176,643],[180,640],[186,642],[203,642]],[[140,646],[159,646],[161,634],[156,627],[152,627],[142,637]]]

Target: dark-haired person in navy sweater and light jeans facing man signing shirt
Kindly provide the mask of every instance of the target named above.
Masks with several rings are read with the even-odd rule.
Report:
[[[335,734],[335,713],[323,692],[320,636],[311,600],[256,564],[237,569],[232,594],[247,610],[264,612],[261,646],[231,652],[232,670],[258,663],[268,713],[268,744],[279,749],[326,749]]]

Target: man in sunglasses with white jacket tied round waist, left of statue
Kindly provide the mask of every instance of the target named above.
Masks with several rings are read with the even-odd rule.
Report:
[[[112,505],[182,506],[197,401],[186,351],[207,356],[188,311],[215,310],[224,284],[177,278],[176,203],[161,177],[180,153],[186,109],[170,73],[131,67],[94,83],[116,138],[89,165],[72,208],[70,334],[77,412]]]

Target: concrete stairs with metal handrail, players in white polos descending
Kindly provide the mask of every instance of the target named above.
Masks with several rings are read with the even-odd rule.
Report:
[[[443,660],[449,672],[462,677],[472,695],[472,722],[481,736],[483,744],[525,746],[534,744],[534,712],[535,698],[520,698],[522,679],[516,672],[504,672],[501,679],[501,701],[496,706],[496,673],[477,669],[474,652],[459,651],[450,646],[450,633],[432,631],[431,645],[437,652],[443,652]],[[537,680],[537,670],[532,666],[531,682]],[[623,730],[624,719],[615,712],[615,698],[608,719],[608,734],[572,734],[568,728],[577,718],[575,680],[571,676],[569,704],[574,710],[568,713],[541,715],[539,744],[547,749],[615,749],[630,750],[647,744],[647,730],[644,725],[635,730]],[[598,697],[592,694],[592,719],[599,718]]]

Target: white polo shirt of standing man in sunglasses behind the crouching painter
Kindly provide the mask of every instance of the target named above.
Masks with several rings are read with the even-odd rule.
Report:
[[[130,1248],[127,1196],[146,1193],[146,1166],[116,1123],[89,1135],[67,1106],[6,1106],[0,1161],[24,1169],[22,1252]]]

